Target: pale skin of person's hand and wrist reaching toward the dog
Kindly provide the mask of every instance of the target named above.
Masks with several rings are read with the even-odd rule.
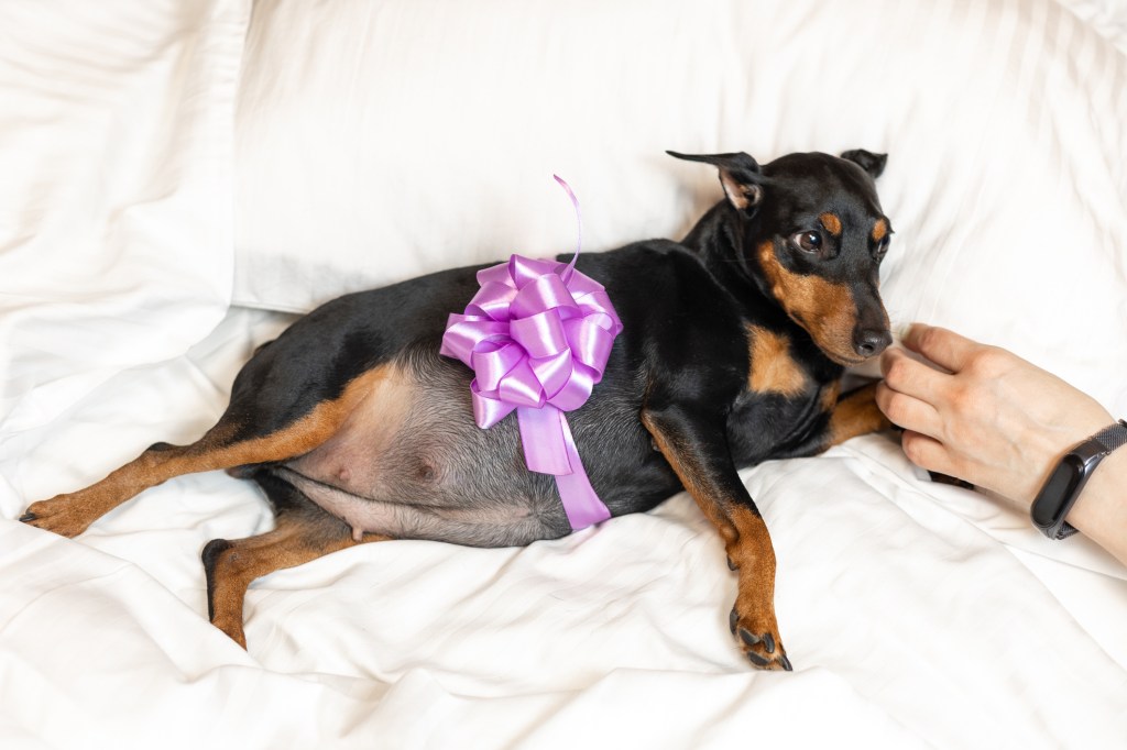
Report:
[[[1029,511],[1072,446],[1115,423],[1088,394],[999,347],[914,324],[881,357],[877,405],[904,428],[904,453]],[[1082,534],[1127,564],[1127,447],[1099,465],[1068,514]]]

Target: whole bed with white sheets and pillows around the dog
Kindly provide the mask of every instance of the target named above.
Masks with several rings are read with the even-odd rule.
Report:
[[[893,434],[742,473],[791,673],[740,658],[684,493],[279,571],[249,651],[207,623],[199,553],[270,527],[251,484],[176,479],[73,541],[15,520],[197,437],[319,302],[573,247],[553,172],[585,252],[680,236],[720,187],[666,149],[888,152],[894,325],[1127,417],[1124,3],[51,0],[0,28],[5,748],[1127,743],[1127,569]]]

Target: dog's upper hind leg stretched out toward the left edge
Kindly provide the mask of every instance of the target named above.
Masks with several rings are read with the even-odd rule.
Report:
[[[390,365],[373,367],[310,403],[301,399],[309,399],[308,383],[289,382],[284,390],[257,387],[261,378],[256,375],[272,373],[268,363],[250,364],[236,381],[231,404],[199,440],[186,446],[158,443],[85,490],[32,503],[20,520],[73,537],[139,492],[174,476],[303,455],[331,437],[353,409],[394,374]]]

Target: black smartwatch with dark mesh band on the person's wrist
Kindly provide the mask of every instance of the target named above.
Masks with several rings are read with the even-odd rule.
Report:
[[[1050,539],[1063,539],[1075,534],[1076,528],[1066,523],[1065,517],[1103,457],[1125,445],[1127,420],[1119,420],[1068,450],[1049,474],[1029,509],[1033,526]]]

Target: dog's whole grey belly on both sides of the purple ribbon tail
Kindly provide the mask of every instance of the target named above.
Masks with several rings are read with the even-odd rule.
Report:
[[[331,438],[278,473],[355,534],[509,546],[569,533],[553,477],[525,465],[516,414],[480,429],[469,380],[436,356],[389,366]],[[569,419],[612,514],[680,489],[630,407],[595,401]]]

